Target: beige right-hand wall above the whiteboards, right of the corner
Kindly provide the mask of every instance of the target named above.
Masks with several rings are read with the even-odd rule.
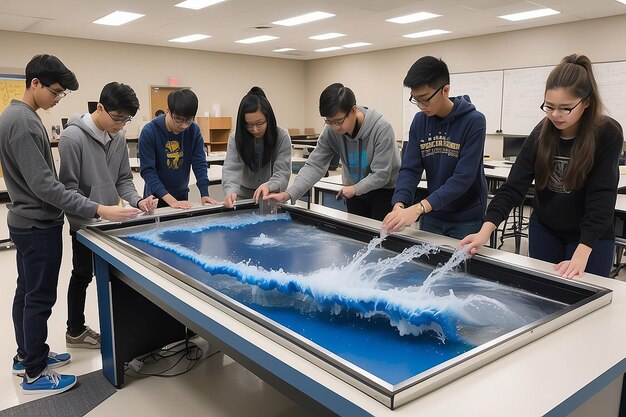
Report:
[[[374,107],[402,139],[402,81],[423,55],[441,57],[450,72],[555,65],[571,53],[593,62],[626,60],[626,15],[476,36],[307,62],[305,123],[319,126],[319,94],[333,82],[354,90],[357,102]],[[538,102],[541,97],[538,98]],[[479,109],[480,110],[480,109]],[[499,137],[489,135],[485,153],[502,155]]]

